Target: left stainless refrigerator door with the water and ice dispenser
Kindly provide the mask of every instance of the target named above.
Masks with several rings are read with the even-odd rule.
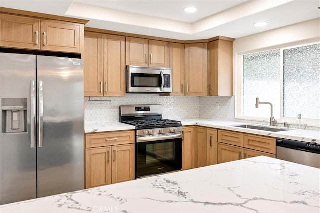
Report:
[[[0,53],[0,60],[0,203],[6,204],[36,198],[35,55]]]

